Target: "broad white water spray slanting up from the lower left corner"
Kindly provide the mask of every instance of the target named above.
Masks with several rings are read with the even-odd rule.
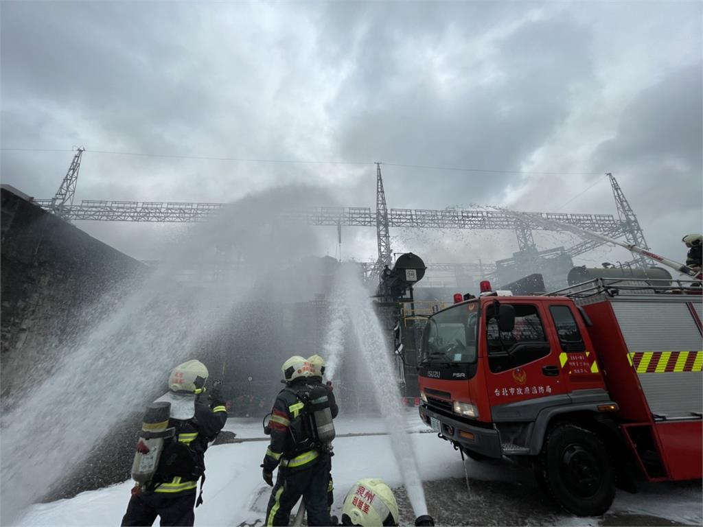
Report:
[[[11,482],[0,493],[2,525],[18,521],[33,502],[53,497],[54,491],[86,490],[73,480],[86,471],[92,474],[93,448],[110,449],[117,444],[116,436],[134,425],[131,417],[141,417],[143,405],[157,396],[153,391],[163,393],[159,387],[165,386],[166,374],[176,363],[195,356],[217,370],[221,364],[224,375],[226,360],[238,358],[233,353],[245,355],[232,351],[228,343],[239,339],[257,346],[260,339],[250,337],[257,331],[269,337],[259,349],[266,349],[272,358],[283,353],[282,345],[270,343],[283,343],[283,335],[292,330],[283,324],[271,327],[267,323],[273,317],[268,313],[259,317],[259,311],[266,309],[257,311],[252,304],[258,306],[262,298],[270,298],[272,290],[281,297],[282,291],[293,290],[282,278],[285,265],[318,252],[316,230],[295,223],[290,230],[280,226],[274,235],[266,231],[264,221],[249,225],[241,219],[256,218],[257,211],[282,202],[304,205],[318,198],[309,188],[243,198],[208,223],[193,224],[171,248],[164,249],[165,261],[179,265],[193,255],[206,254],[225,234],[234,239],[246,249],[247,261],[240,273],[220,280],[217,287],[183,286],[172,280],[167,266],[115,279],[95,301],[85,300],[92,298],[88,286],[76,285],[72,290],[78,299],[75,316],[67,330],[70,338],[58,341],[47,334],[37,340],[37,347],[54,348],[51,356],[47,351],[42,356],[46,358],[30,365],[31,372],[46,375],[37,375],[33,382],[34,375],[25,377],[22,368],[13,372],[25,384],[12,393],[13,405],[4,407],[0,423],[0,469],[5,481]],[[247,227],[233,232],[233,225]],[[306,283],[301,286],[309,288],[306,292],[317,287]],[[259,363],[249,360],[246,367],[265,378],[268,365]],[[119,468],[112,468],[106,477],[120,477],[115,475]]]

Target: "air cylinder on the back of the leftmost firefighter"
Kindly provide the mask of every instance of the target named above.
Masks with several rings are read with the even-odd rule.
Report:
[[[132,464],[132,479],[137,483],[153,479],[164,450],[164,438],[168,436],[170,414],[171,403],[151,403],[146,407]]]

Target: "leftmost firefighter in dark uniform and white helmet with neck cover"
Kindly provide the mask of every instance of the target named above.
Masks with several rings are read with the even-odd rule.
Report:
[[[169,392],[157,399],[172,403],[169,427],[174,439],[165,443],[152,481],[135,486],[122,526],[150,526],[160,516],[162,526],[192,526],[193,505],[202,503],[205,450],[227,420],[217,386],[205,399],[207,367],[199,360],[178,365],[169,375]],[[200,496],[195,502],[200,479]]]

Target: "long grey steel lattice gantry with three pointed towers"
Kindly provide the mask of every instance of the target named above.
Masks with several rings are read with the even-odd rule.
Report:
[[[157,223],[189,223],[206,221],[213,214],[227,207],[226,203],[187,202],[128,202],[83,200],[74,205],[78,171],[84,148],[79,148],[73,157],[61,186],[51,200],[35,200],[46,210],[54,212],[68,221],[147,221]],[[511,212],[484,211],[474,209],[388,209],[383,188],[380,162],[376,164],[376,210],[369,207],[309,207],[276,211],[276,216],[286,221],[302,221],[309,225],[375,227],[378,238],[378,259],[373,272],[378,276],[386,265],[392,263],[389,228],[437,228],[470,230],[515,230],[521,251],[536,252],[531,230],[553,230],[545,223],[560,222],[588,230],[595,230],[611,238],[625,236],[628,242],[647,247],[642,229],[632,208],[628,204],[617,181],[610,181],[617,203],[619,218],[612,214],[560,214],[529,212],[517,216]],[[586,240],[566,249],[569,256],[588,252],[602,245]],[[641,257],[640,257],[641,258]],[[641,259],[638,259],[641,263]]]

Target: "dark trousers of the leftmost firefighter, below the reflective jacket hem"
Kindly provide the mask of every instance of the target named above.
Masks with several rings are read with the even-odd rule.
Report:
[[[176,494],[141,493],[129,500],[122,526],[150,526],[159,516],[162,527],[191,527],[195,523],[194,505],[195,490]]]

